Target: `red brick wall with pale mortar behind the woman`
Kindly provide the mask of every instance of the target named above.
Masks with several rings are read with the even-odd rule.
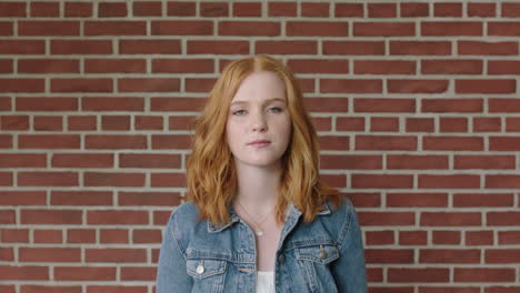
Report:
[[[372,293],[520,292],[520,1],[1,1],[0,292],[151,293],[223,64],[298,74]]]

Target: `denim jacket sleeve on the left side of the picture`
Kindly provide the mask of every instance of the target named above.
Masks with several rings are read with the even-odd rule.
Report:
[[[186,270],[184,247],[179,241],[176,213],[166,226],[159,253],[156,293],[191,292],[192,279]]]

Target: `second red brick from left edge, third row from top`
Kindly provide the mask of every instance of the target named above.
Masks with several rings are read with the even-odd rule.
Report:
[[[111,40],[51,40],[52,54],[111,54]]]

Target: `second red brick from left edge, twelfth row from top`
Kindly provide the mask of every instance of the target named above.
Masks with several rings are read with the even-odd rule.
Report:
[[[82,211],[79,210],[22,210],[22,224],[71,225],[82,223]]]

